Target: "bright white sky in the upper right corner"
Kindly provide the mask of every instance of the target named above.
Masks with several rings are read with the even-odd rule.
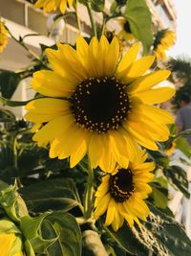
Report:
[[[177,12],[177,42],[169,56],[191,58],[191,0],[173,0]]]

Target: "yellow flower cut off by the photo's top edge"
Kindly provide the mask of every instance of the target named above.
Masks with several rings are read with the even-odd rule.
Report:
[[[37,0],[34,4],[36,8],[42,8],[44,12],[53,12],[58,8],[60,12],[64,13],[66,11],[67,3],[69,7],[73,5],[73,0]]]

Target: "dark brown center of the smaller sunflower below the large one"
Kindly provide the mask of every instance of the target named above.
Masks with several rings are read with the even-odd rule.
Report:
[[[109,182],[110,194],[117,202],[127,200],[135,191],[133,174],[129,169],[121,169],[117,175],[111,175]]]

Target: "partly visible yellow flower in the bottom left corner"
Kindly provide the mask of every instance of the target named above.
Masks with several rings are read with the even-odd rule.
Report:
[[[1,256],[24,256],[22,241],[14,233],[0,233]]]

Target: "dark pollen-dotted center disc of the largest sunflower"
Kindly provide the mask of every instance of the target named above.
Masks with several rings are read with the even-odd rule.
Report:
[[[71,98],[77,125],[97,133],[121,127],[130,109],[126,85],[115,78],[82,81]]]

